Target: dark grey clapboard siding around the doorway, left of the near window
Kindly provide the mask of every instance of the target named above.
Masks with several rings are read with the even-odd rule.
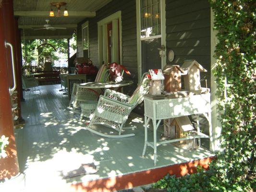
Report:
[[[137,83],[137,42],[136,42],[136,1],[113,0],[96,12],[96,17],[88,18],[78,24],[89,22],[89,57],[93,64],[99,67],[102,61],[98,60],[98,22],[111,14],[121,11],[122,18],[122,65],[131,72],[131,76],[124,74],[127,80]],[[78,38],[79,37],[79,38]],[[82,31],[77,30],[77,49],[82,50]],[[80,41],[80,42],[79,42]],[[79,55],[79,54],[78,54]],[[82,56],[82,55],[81,55]]]

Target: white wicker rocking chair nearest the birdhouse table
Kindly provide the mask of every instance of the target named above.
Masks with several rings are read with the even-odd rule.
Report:
[[[99,97],[97,108],[86,129],[98,135],[110,138],[134,136],[133,133],[122,135],[121,133],[123,129],[131,129],[131,127],[123,128],[123,125],[128,119],[131,111],[143,101],[144,95],[148,92],[148,89],[149,80],[146,77],[146,73],[143,75],[140,84],[135,89],[132,96],[127,96],[117,91],[107,89],[104,96],[101,95]],[[93,124],[102,124],[114,128],[118,132],[118,135],[98,132],[91,128]]]

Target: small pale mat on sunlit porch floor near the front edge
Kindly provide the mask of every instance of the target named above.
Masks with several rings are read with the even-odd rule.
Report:
[[[79,168],[74,169],[72,171],[68,171],[68,172],[61,171],[61,177],[63,179],[69,179],[69,178],[73,178],[73,177],[77,177],[85,174],[95,174],[97,172],[98,170],[96,169],[96,166],[93,163],[88,163],[88,164],[82,164]]]

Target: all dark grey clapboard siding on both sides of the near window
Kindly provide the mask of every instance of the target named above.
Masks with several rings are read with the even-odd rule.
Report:
[[[133,80],[134,84],[124,93],[131,95],[138,82],[137,76],[137,41],[136,41],[136,0],[113,0],[96,12],[96,17],[85,19],[78,24],[78,51],[82,51],[81,24],[89,22],[89,56],[97,67],[98,60],[98,22],[111,14],[122,14],[122,64],[132,75],[124,73],[124,78]],[[208,72],[207,87],[210,87],[210,4],[207,0],[166,0],[166,51],[173,50],[175,58],[167,64],[182,65],[184,60],[196,60]],[[78,54],[79,56],[79,54]],[[81,55],[82,56],[82,55]],[[205,87],[205,82],[201,83]],[[143,103],[135,108],[144,114]]]

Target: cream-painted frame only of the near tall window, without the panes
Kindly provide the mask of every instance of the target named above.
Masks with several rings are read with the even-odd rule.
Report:
[[[149,38],[146,38],[146,39],[161,37],[161,45],[164,45],[165,48],[166,48],[165,0],[160,0],[160,6],[161,6],[161,35],[154,36],[154,37],[149,37]],[[137,25],[137,62],[138,62],[138,65],[137,65],[138,69],[137,70],[138,70],[138,81],[140,81],[141,75],[142,75],[142,66],[141,66],[142,52],[141,52],[141,38],[140,38],[140,29],[141,29],[141,25],[140,25],[140,0],[136,0],[136,25]],[[165,49],[165,52],[166,52],[166,49]],[[165,53],[164,57],[161,57],[162,69],[165,65],[166,65],[166,53]]]

